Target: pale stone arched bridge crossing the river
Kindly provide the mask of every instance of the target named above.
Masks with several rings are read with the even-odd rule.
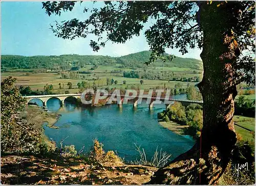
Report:
[[[46,106],[47,105],[47,101],[51,98],[57,98],[60,100],[60,104],[63,105],[64,101],[66,98],[69,97],[74,97],[74,98],[81,98],[81,94],[65,94],[65,95],[40,95],[40,96],[24,96],[24,98],[27,98],[27,103],[29,103],[30,100],[32,99],[39,99],[42,101],[42,105]],[[108,102],[111,98],[111,94],[107,96],[106,98],[106,102]],[[156,101],[156,97],[151,97],[151,98],[147,98],[145,97],[141,97],[141,96],[137,96],[134,99],[131,99],[131,101],[133,101],[133,106],[137,107],[138,103],[140,103],[140,101],[142,101],[142,99],[151,99],[150,102],[148,102],[148,108],[153,108],[154,104],[157,104]],[[195,101],[195,100],[179,100],[179,99],[172,99],[169,98],[168,101],[172,102],[172,103],[165,103],[165,97],[161,97],[159,101],[161,101],[163,104],[165,104],[166,108],[168,108],[170,105],[172,105],[175,101],[180,102],[185,108],[193,103],[199,104],[201,106],[203,106],[203,101]],[[118,106],[122,106],[124,101],[124,96],[120,96],[120,100],[117,100],[117,104]]]

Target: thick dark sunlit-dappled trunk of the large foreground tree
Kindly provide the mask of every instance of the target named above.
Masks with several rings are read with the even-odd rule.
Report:
[[[219,6],[218,6],[219,5]],[[237,136],[233,125],[235,63],[240,51],[231,28],[234,2],[202,2],[198,23],[203,30],[203,128],[195,146],[159,169],[149,184],[216,184],[230,160]]]

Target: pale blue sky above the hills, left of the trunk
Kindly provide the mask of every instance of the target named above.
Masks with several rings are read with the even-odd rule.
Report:
[[[89,13],[83,13],[84,6],[92,9],[101,5],[102,2],[97,2],[96,5],[92,2],[78,3],[72,12],[49,17],[42,9],[41,2],[1,2],[1,54],[22,56],[79,54],[118,57],[150,50],[143,31],[140,36],[133,37],[124,44],[108,42],[104,48],[93,52],[89,44],[95,37],[68,40],[56,37],[50,30],[50,24],[54,24],[55,21],[87,19]],[[146,24],[146,26],[150,25],[151,22]],[[179,57],[201,59],[199,49],[189,50],[185,55],[182,55],[178,49],[166,49],[166,52]]]

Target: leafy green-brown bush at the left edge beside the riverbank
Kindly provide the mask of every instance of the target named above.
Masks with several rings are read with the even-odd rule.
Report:
[[[1,82],[1,154],[39,154],[45,150],[41,129],[20,119],[26,99],[14,86],[16,79],[8,77]]]

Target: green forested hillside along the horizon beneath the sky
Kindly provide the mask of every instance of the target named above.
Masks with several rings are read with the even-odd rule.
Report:
[[[117,63],[120,67],[143,68],[146,67],[144,62],[150,58],[150,51],[138,52],[121,57],[96,56],[96,55],[61,55],[61,56],[15,56],[2,55],[1,68],[62,68],[68,69],[71,66],[84,67],[88,64],[93,65],[110,65]],[[176,57],[171,62],[163,63],[158,60],[153,66],[165,67],[186,67],[202,70],[202,61],[191,58]]]

